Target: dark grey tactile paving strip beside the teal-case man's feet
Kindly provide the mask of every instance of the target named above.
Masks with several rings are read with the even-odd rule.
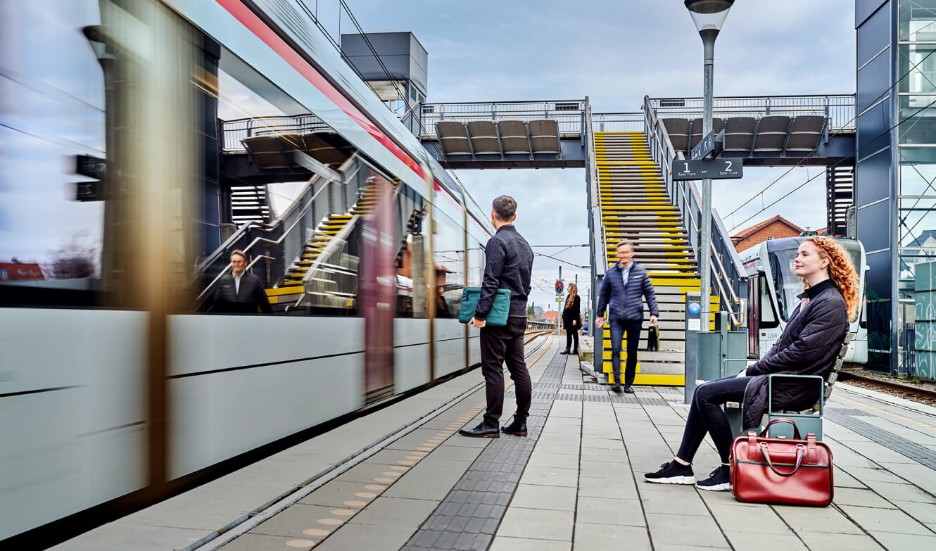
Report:
[[[490,442],[402,549],[483,551],[488,548],[556,396],[555,390],[543,390],[559,388],[567,357],[560,355],[557,349],[539,384],[534,387],[533,404],[527,420],[529,436],[504,435]]]

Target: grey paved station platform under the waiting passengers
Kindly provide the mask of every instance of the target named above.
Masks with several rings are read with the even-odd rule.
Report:
[[[481,374],[472,371],[447,390],[319,437],[334,445],[357,438],[368,423],[403,426],[445,396],[461,396],[310,486],[301,499],[197,549],[936,549],[936,408],[837,384],[826,404],[824,438],[835,463],[833,504],[746,504],[729,492],[644,483],[643,473],[679,447],[688,413],[682,389],[637,387],[634,395],[615,395],[578,369],[578,357],[559,355],[561,344],[551,337],[531,344],[529,437],[457,434],[480,422],[484,409]],[[509,384],[505,423],[513,413]],[[292,460],[301,462],[310,449],[326,453],[315,440]],[[251,469],[271,472],[283,460]],[[717,465],[707,440],[695,474],[704,477]],[[191,515],[221,507],[202,501],[174,502]],[[166,509],[142,513],[158,525]],[[62,548],[117,548],[102,544],[105,533],[82,541],[94,547]],[[171,548],[194,549],[179,539]],[[168,548],[137,543],[133,548]]]

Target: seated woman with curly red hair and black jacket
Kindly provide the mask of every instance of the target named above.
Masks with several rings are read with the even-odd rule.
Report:
[[[744,404],[744,428],[757,429],[767,411],[769,374],[819,375],[826,378],[835,365],[841,343],[855,319],[858,277],[851,257],[826,237],[803,239],[797,250],[794,271],[803,280],[801,302],[770,352],[735,377],[700,384],[689,409],[682,443],[676,457],[656,472],[644,474],[646,482],[694,484],[706,490],[728,490],[728,450],[732,430],[720,407],[726,401]],[[814,382],[788,380],[773,384],[773,405],[778,409],[802,410],[819,399]],[[722,458],[709,478],[695,482],[692,460],[706,431]]]

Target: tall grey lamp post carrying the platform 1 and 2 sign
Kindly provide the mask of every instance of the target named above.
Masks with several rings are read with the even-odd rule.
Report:
[[[686,9],[695,22],[695,29],[702,36],[705,48],[705,108],[702,115],[702,137],[711,132],[712,66],[715,59],[715,38],[722,29],[724,18],[735,0],[685,0]],[[699,247],[699,271],[702,275],[701,302],[702,331],[709,330],[709,285],[711,279],[711,179],[702,181],[702,243]]]

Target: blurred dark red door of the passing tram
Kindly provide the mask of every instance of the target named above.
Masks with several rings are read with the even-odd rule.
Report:
[[[397,244],[394,186],[369,170],[363,214],[360,305],[364,315],[364,397],[368,402],[393,394],[393,317],[397,301]]]

